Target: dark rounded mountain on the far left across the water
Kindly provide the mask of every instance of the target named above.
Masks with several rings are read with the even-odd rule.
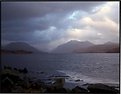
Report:
[[[2,47],[2,52],[13,53],[38,53],[42,52],[25,42],[12,42]],[[42,52],[43,53],[43,52]]]

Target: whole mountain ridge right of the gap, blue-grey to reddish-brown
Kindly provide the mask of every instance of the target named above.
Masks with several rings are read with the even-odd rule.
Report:
[[[93,44],[89,41],[72,40],[55,48],[53,53],[118,53],[119,44],[107,42],[104,44]]]

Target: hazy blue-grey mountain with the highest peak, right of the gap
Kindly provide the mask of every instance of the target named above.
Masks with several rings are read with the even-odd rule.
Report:
[[[79,48],[87,48],[93,46],[94,44],[89,41],[80,42],[77,40],[71,40],[65,44],[62,44],[55,48],[52,53],[71,53]]]

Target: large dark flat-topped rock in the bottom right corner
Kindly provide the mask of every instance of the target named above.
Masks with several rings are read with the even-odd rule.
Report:
[[[90,93],[113,93],[116,94],[119,91],[111,86],[107,86],[104,84],[89,84],[87,89]]]

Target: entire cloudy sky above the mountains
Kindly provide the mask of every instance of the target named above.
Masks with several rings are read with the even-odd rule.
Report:
[[[50,51],[70,40],[119,42],[119,2],[2,2],[1,43]]]

